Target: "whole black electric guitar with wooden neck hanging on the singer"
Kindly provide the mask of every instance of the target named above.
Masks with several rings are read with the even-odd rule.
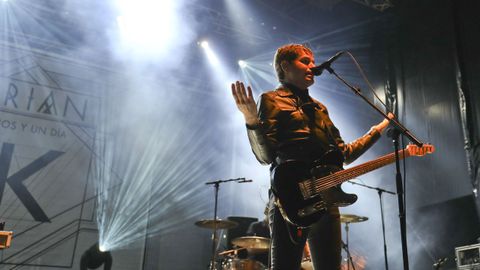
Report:
[[[398,156],[404,159],[434,151],[434,146],[430,144],[422,147],[408,145],[398,151]],[[276,204],[285,220],[299,227],[309,227],[329,207],[355,203],[357,195],[345,193],[340,184],[395,162],[395,152],[345,170],[341,167],[337,151],[327,153],[321,160],[325,162],[313,168],[301,161],[286,161],[273,171],[272,188]]]

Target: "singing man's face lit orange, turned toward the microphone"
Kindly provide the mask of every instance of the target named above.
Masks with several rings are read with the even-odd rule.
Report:
[[[282,68],[285,72],[284,81],[300,89],[307,89],[315,81],[310,68],[315,66],[313,55],[301,50],[298,57],[292,62],[284,61]]]

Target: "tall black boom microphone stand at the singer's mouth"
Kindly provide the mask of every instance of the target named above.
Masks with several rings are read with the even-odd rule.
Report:
[[[354,87],[340,77],[335,71],[330,67],[330,65],[325,66],[325,69],[333,74],[337,79],[339,79],[343,84],[348,86],[356,95],[361,97],[365,102],[367,102],[374,110],[381,114],[385,119],[389,119],[388,115],[385,114],[380,108],[375,106],[370,100],[368,100],[362,93],[359,87]],[[404,193],[403,193],[403,184],[402,184],[402,175],[400,172],[400,159],[398,156],[398,137],[400,134],[405,135],[411,142],[416,144],[418,147],[422,147],[423,143],[420,142],[407,128],[405,128],[401,123],[396,119],[389,119],[390,123],[393,125],[393,129],[396,130],[392,133],[392,140],[395,148],[395,164],[396,164],[396,183],[397,183],[397,197],[398,197],[398,217],[400,219],[400,234],[402,238],[402,254],[403,254],[403,269],[409,270],[408,266],[408,250],[407,250],[407,221],[406,221],[406,212],[405,212],[405,203],[404,203]]]

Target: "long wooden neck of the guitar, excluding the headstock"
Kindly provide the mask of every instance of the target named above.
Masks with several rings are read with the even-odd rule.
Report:
[[[398,156],[400,159],[404,159],[406,157],[409,157],[410,154],[408,151],[399,150]],[[350,179],[353,179],[357,176],[366,174],[368,172],[371,172],[373,170],[376,170],[378,168],[381,168],[393,162],[395,162],[395,152],[379,157],[377,159],[371,160],[369,162],[360,164],[358,166],[355,166],[346,170],[338,171],[336,173],[333,173],[321,178],[317,178],[314,181],[315,190],[316,192],[320,192],[320,191],[329,189],[343,182],[346,182]]]

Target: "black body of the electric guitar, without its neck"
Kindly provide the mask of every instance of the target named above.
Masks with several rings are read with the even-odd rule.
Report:
[[[330,164],[338,164],[328,162],[328,157],[325,160]],[[278,165],[273,171],[272,187],[277,198],[277,206],[285,220],[299,227],[309,227],[318,221],[329,207],[355,203],[357,196],[345,193],[340,185],[315,192],[315,195],[308,198],[302,195],[300,183],[308,183],[340,170],[342,168],[335,165],[318,165],[311,168],[304,162],[295,160]]]

